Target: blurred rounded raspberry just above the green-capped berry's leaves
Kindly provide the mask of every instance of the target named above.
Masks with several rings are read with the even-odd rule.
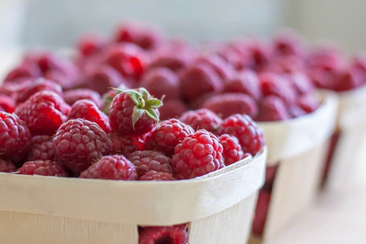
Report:
[[[165,100],[179,99],[180,97],[178,76],[167,68],[156,68],[148,71],[142,76],[140,86],[159,99],[163,95],[165,95]]]

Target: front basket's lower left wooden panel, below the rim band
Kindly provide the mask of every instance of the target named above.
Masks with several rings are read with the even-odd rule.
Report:
[[[1,243],[138,244],[136,225],[0,211]]]

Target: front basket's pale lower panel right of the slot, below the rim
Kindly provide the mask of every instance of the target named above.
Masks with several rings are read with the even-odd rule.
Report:
[[[190,223],[191,244],[243,244],[249,238],[258,191],[234,206]]]

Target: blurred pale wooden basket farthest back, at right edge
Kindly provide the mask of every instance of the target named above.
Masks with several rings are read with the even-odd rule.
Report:
[[[366,86],[340,92],[335,144],[325,187],[340,188],[347,180],[351,164],[360,151],[366,133]]]

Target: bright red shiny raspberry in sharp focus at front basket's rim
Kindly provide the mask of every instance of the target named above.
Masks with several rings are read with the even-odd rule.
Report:
[[[194,178],[224,167],[223,146],[211,132],[199,129],[175,147],[173,170],[180,179]]]

